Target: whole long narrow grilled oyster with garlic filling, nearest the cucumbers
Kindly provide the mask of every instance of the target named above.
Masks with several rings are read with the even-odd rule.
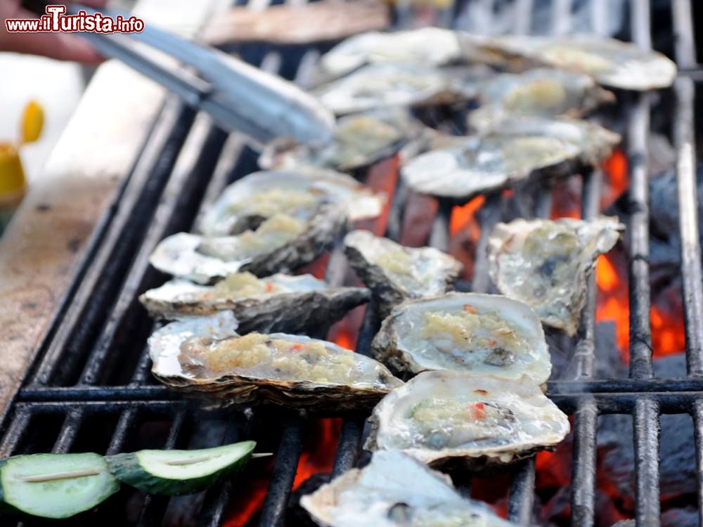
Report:
[[[165,325],[148,340],[153,374],[218,405],[270,401],[317,410],[371,405],[402,384],[372,358],[332,342],[235,330],[230,311]]]

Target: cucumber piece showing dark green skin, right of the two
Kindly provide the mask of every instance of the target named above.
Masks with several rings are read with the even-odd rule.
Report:
[[[252,455],[254,441],[202,450],[139,450],[105,459],[120,481],[149,494],[199,492],[238,471]]]

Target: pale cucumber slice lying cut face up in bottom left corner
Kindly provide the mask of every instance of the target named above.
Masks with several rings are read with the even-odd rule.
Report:
[[[18,455],[0,462],[6,505],[44,518],[68,518],[92,509],[120,489],[101,455]]]

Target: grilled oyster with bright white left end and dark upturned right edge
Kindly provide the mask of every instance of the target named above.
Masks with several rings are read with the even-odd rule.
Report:
[[[275,214],[256,230],[234,236],[175,234],[157,245],[149,261],[160,271],[203,284],[238,271],[265,276],[313,261],[346,229],[344,207],[325,203],[307,222]]]

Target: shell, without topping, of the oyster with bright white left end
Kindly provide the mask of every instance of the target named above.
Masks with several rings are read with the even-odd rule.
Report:
[[[347,213],[336,204],[323,204],[302,231],[283,245],[262,247],[254,256],[224,258],[214,254],[221,247],[236,253],[242,236],[207,237],[179,233],[162,240],[150,256],[150,263],[160,271],[193,282],[217,282],[226,275],[249,271],[257,276],[289,272],[310,263],[329,249],[346,232]],[[256,231],[254,231],[254,237]],[[208,250],[203,250],[207,244]]]

